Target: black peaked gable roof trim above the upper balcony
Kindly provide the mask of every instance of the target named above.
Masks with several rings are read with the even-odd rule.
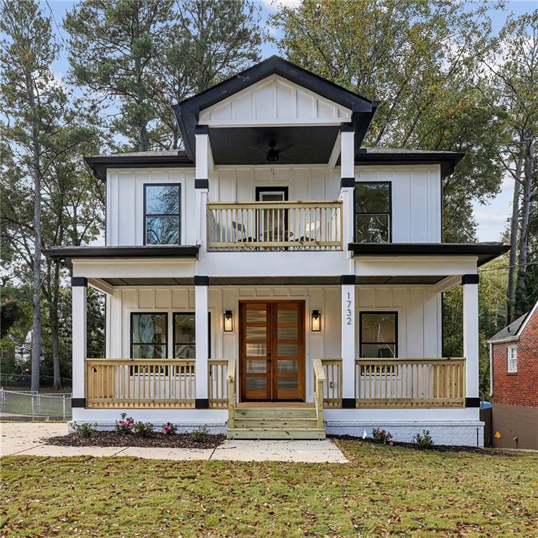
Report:
[[[303,67],[292,64],[284,58],[273,55],[244,71],[227,78],[204,92],[189,97],[174,104],[172,109],[176,114],[177,123],[181,130],[186,153],[192,160],[195,159],[194,129],[198,123],[198,113],[215,103],[234,95],[245,88],[267,78],[273,74],[282,76],[287,80],[307,88],[312,92],[330,99],[352,111],[352,122],[355,124],[355,147],[359,148],[366,129],[370,124],[379,102],[361,97],[342,86],[322,78]]]

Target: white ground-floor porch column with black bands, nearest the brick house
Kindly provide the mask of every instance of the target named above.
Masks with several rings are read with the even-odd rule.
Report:
[[[463,356],[467,359],[465,407],[479,407],[478,275],[463,275]]]

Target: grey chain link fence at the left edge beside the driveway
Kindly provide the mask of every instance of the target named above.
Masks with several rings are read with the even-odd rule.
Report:
[[[71,394],[0,389],[1,420],[69,420]]]

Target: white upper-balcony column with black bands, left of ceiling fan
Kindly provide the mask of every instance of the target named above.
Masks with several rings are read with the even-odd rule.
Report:
[[[207,195],[209,193],[209,165],[211,163],[211,149],[209,147],[209,127],[196,125],[196,170],[195,170],[195,196],[196,196],[196,244],[201,250],[206,248],[207,229]]]

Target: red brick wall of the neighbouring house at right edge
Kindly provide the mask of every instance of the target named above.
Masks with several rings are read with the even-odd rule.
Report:
[[[508,373],[507,348],[518,347],[518,372]],[[494,343],[493,402],[538,407],[538,309],[514,342]]]

